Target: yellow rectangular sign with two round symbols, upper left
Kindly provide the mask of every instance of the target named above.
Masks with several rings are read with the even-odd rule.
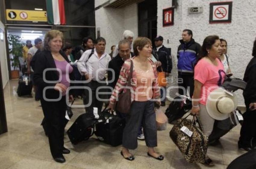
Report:
[[[46,11],[39,10],[6,9],[6,19],[8,21],[47,22],[47,14]]]

